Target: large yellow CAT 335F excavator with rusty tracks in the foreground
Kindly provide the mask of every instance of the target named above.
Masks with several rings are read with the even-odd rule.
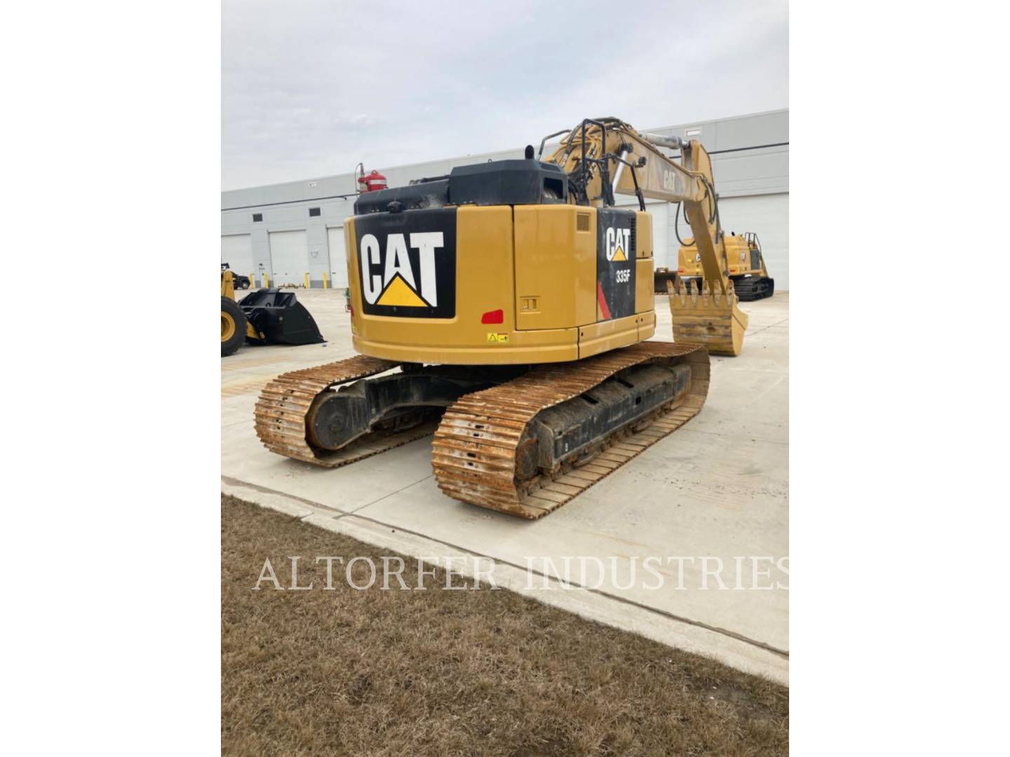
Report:
[[[746,327],[717,264],[708,154],[615,118],[549,134],[539,154],[562,134],[546,160],[530,145],[525,159],[358,198],[344,237],[361,354],[264,388],[268,449],[337,467],[433,432],[442,492],[539,518],[701,410],[708,351],[737,354]],[[615,207],[615,193],[637,209]],[[702,293],[670,298],[673,343],[646,341],[645,197],[683,202],[701,240]]]

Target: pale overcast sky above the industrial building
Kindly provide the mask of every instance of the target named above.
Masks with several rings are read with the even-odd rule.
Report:
[[[788,3],[224,0],[222,189],[789,105]]]

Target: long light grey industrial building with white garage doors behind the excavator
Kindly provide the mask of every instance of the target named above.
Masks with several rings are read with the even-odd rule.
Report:
[[[789,290],[789,111],[720,118],[714,121],[643,128],[701,141],[712,154],[719,215],[726,233],[755,231],[776,291]],[[378,169],[390,187],[412,179],[448,174],[457,166],[522,157],[525,145],[501,152],[452,157]],[[544,149],[550,151],[550,146]],[[671,150],[665,150],[670,154]],[[221,193],[221,261],[251,275],[257,286],[266,274],[271,286],[347,286],[343,222],[354,215],[352,173]],[[620,205],[636,203],[618,196]],[[676,267],[675,213],[669,203],[648,200],[652,214],[655,264]],[[682,238],[691,230],[681,219]]]

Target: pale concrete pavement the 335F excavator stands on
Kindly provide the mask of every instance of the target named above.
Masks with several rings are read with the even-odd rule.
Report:
[[[298,298],[330,341],[245,346],[221,360],[223,492],[414,557],[494,558],[499,585],[788,682],[788,293],[741,306],[743,353],[712,358],[695,419],[538,521],[442,495],[429,439],[337,469],[268,452],[252,429],[263,385],[355,354],[342,294]],[[656,314],[654,338],[669,341],[666,297]],[[599,587],[542,588],[543,558],[560,569],[566,557],[588,560],[585,577]],[[659,576],[643,566],[649,557]],[[602,580],[589,558],[602,561]]]

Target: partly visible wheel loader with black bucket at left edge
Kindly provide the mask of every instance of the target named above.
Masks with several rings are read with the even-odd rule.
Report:
[[[245,341],[255,344],[318,344],[325,341],[294,293],[264,289],[235,302],[235,278],[221,263],[221,357]]]

